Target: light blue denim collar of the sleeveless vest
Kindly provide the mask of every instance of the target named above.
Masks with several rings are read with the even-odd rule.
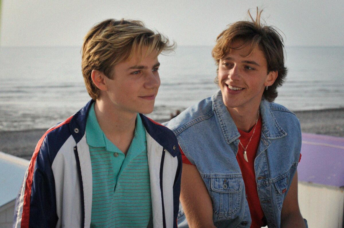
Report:
[[[218,90],[212,96],[212,101],[213,111],[215,111],[218,117],[223,135],[227,143],[230,144],[235,139],[239,138],[240,133],[238,132],[238,129],[233,121],[232,116],[230,116],[227,107],[223,103],[221,90]],[[259,109],[262,118],[262,133],[264,133],[267,139],[275,139],[287,135],[287,133],[278,124],[275,116],[273,116],[268,101],[262,99]]]

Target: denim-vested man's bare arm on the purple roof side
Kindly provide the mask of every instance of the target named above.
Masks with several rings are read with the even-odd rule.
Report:
[[[298,172],[296,171],[281,211],[281,227],[305,228],[298,203]]]

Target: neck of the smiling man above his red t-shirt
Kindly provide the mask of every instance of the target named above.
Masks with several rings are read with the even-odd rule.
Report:
[[[229,114],[239,130],[250,132],[258,118],[259,104],[255,107],[227,107]]]

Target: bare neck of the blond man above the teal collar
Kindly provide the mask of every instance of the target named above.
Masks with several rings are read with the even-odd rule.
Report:
[[[119,110],[105,99],[97,99],[94,105],[97,121],[108,139],[133,137],[137,113]],[[113,140],[111,140],[113,141]]]

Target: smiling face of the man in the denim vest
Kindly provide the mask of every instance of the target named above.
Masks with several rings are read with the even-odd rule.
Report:
[[[233,42],[238,47],[240,41]],[[277,72],[267,73],[267,61],[262,50],[256,47],[249,53],[247,45],[219,60],[218,81],[227,109],[250,110],[259,107],[264,88],[276,80]]]

